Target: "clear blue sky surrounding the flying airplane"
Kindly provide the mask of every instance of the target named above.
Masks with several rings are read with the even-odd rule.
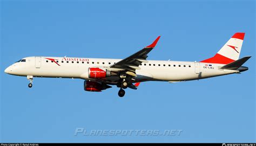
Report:
[[[85,92],[83,80],[4,73],[28,56],[125,58],[161,35],[150,60],[200,61],[245,32],[242,74]],[[1,142],[256,142],[254,1],[1,1]],[[74,136],[183,130],[179,136]]]

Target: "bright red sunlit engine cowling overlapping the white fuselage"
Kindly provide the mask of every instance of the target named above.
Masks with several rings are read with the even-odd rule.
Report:
[[[106,69],[100,69],[100,68],[89,68],[88,69],[88,77],[91,79],[102,79],[106,77],[110,77],[110,71]]]

